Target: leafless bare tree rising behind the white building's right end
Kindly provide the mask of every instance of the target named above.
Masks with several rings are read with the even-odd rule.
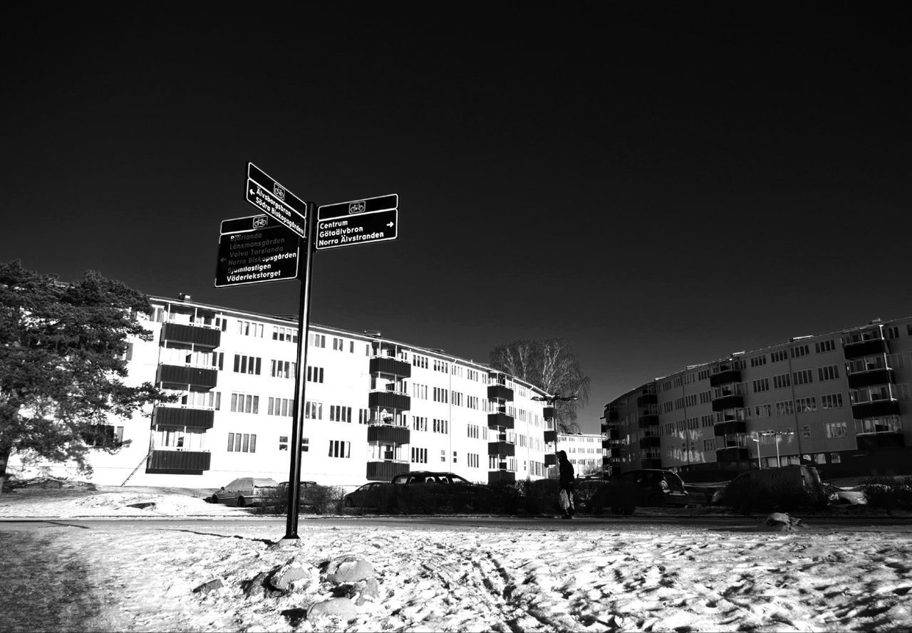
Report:
[[[589,400],[589,377],[566,339],[517,339],[496,346],[489,364],[501,372],[532,383],[549,395],[576,396],[554,403],[554,423],[561,433],[576,433],[576,409]]]

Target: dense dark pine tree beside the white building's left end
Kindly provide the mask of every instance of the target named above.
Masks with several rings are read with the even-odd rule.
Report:
[[[67,284],[19,260],[0,263],[0,490],[12,452],[72,461],[88,474],[109,416],[170,399],[122,380],[128,337],[151,340],[138,312],[150,312],[148,297],[96,271]]]

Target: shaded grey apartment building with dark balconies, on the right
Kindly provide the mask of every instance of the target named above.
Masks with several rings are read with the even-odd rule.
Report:
[[[606,403],[603,466],[912,472],[912,317],[689,365]]]

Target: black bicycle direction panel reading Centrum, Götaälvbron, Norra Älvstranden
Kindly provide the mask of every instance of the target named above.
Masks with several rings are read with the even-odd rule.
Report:
[[[320,207],[316,250],[371,244],[399,237],[399,195],[339,202]]]

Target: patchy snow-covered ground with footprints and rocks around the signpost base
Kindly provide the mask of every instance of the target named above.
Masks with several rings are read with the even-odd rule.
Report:
[[[140,509],[130,504],[154,505]],[[61,490],[0,496],[0,516],[249,514],[190,495]],[[782,532],[770,531],[762,523],[759,518],[756,526],[748,527],[618,523],[606,528],[605,524],[586,526],[579,521],[571,524],[572,530],[548,522],[531,527],[523,524],[521,529],[482,526],[468,531],[302,521],[296,546],[274,545],[284,536],[284,529],[276,533],[275,522],[242,526],[218,520],[192,528],[174,522],[173,527],[156,524],[138,530],[116,522],[88,529],[66,526],[64,521],[5,524],[0,529],[0,574],[7,598],[0,610],[5,610],[6,620],[0,628],[912,628],[912,541],[908,533],[851,527],[827,531],[813,525]],[[326,572],[333,566],[326,567],[340,556],[358,556],[373,571],[368,569],[364,581],[332,582]],[[273,573],[279,568],[282,573]],[[270,586],[281,586],[279,580],[288,569],[296,570],[285,576],[299,576],[295,582],[285,592],[270,590]],[[62,590],[58,585],[72,590],[73,574],[83,591],[67,598],[65,607],[71,617],[61,620],[57,616],[64,607],[53,592]],[[353,599],[339,599],[346,596]],[[323,604],[311,608],[317,603]],[[334,611],[336,615],[332,615]]]

